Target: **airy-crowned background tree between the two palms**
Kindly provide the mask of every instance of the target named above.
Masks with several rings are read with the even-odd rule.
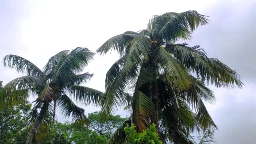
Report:
[[[121,118],[120,115],[109,115],[104,118],[102,112],[93,112],[88,114],[88,119],[90,121],[90,128],[95,130],[98,134],[110,138],[112,132],[126,120],[126,118]]]

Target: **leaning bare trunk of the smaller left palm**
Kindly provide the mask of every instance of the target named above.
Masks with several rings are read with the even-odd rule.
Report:
[[[38,128],[44,118],[44,115],[45,115],[45,112],[46,110],[48,109],[48,102],[44,102],[40,112],[39,112],[39,115],[38,117],[36,118],[36,121],[35,123],[33,124],[31,130],[30,130],[30,133],[28,134],[28,138],[26,140],[26,143],[25,144],[31,144],[32,143],[32,140],[34,138],[34,136],[36,135],[36,132],[38,131]]]

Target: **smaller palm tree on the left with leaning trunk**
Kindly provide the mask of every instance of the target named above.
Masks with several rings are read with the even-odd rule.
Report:
[[[71,52],[64,50],[52,56],[43,70],[20,56],[4,57],[4,66],[15,68],[26,76],[16,78],[4,86],[0,94],[1,104],[10,106],[27,99],[30,94],[37,95],[36,104],[28,120],[32,123],[32,128],[26,144],[31,144],[40,126],[47,125],[52,122],[52,119],[54,120],[56,106],[59,106],[64,116],[72,115],[72,119],[78,122],[87,121],[84,109],[76,106],[68,94],[82,104],[100,105],[102,92],[80,86],[93,76],[88,72],[79,73],[92,60],[94,54],[87,48],[80,47]],[[39,114],[38,108],[40,108]]]

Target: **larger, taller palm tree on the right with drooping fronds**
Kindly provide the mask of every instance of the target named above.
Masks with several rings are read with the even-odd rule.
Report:
[[[242,88],[239,75],[216,58],[208,58],[200,46],[190,47],[192,32],[208,23],[194,10],[153,16],[145,30],[124,32],[107,40],[97,52],[114,49],[120,54],[106,74],[102,111],[118,107],[131,111],[126,120],[141,132],[155,123],[162,140],[191,143],[189,132],[217,130],[204,102],[216,101],[208,85]],[[132,90],[131,90],[132,89]],[[132,94],[128,94],[132,92]],[[125,123],[110,143],[122,143]]]

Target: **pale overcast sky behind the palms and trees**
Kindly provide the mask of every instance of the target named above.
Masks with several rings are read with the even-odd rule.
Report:
[[[209,57],[237,70],[246,85],[242,90],[211,87],[217,103],[207,109],[219,128],[218,144],[255,144],[256,0],[0,0],[0,61],[15,54],[42,69],[59,51],[86,47],[95,52],[112,36],[145,29],[152,15],[187,10],[210,16],[209,24],[194,32],[190,46],[200,45]],[[104,92],[105,74],[117,58],[115,53],[96,54],[84,70],[94,73],[85,85]],[[1,63],[3,84],[19,76]],[[100,110],[82,107],[86,114]],[[129,115],[123,110],[116,114]],[[58,110],[57,120],[69,119]]]

